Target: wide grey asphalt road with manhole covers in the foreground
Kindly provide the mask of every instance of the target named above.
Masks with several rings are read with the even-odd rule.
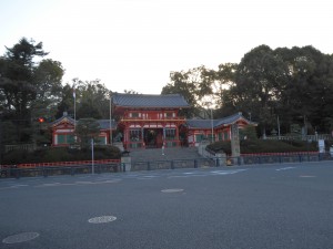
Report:
[[[0,248],[333,249],[333,164],[0,179]]]

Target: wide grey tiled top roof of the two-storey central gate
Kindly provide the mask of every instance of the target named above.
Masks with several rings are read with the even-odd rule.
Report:
[[[185,98],[180,94],[125,94],[114,93],[112,101],[115,106],[123,107],[145,107],[145,108],[168,108],[168,107],[190,107]]]

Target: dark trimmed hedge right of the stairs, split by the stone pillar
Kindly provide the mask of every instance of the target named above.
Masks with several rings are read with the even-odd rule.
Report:
[[[290,153],[290,152],[316,152],[316,142],[304,141],[263,141],[244,139],[240,142],[241,153]],[[216,142],[208,146],[213,152],[224,152],[231,154],[231,142]]]

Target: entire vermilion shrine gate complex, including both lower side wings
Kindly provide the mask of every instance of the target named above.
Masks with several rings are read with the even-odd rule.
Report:
[[[190,107],[180,94],[122,94],[112,96],[112,122],[99,120],[99,144],[121,142],[125,149],[150,147],[198,146],[202,139],[229,141],[231,125],[249,124],[241,113],[219,120],[186,120],[180,110]],[[117,117],[118,122],[113,121]],[[68,146],[74,142],[74,120],[64,114],[51,124],[52,145]],[[113,133],[110,139],[110,131]]]

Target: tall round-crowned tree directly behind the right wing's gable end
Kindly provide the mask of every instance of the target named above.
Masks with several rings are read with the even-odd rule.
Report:
[[[287,69],[282,58],[266,45],[244,55],[238,66],[231,97],[239,111],[251,113],[261,126],[262,135],[275,125],[275,110],[287,82]]]

